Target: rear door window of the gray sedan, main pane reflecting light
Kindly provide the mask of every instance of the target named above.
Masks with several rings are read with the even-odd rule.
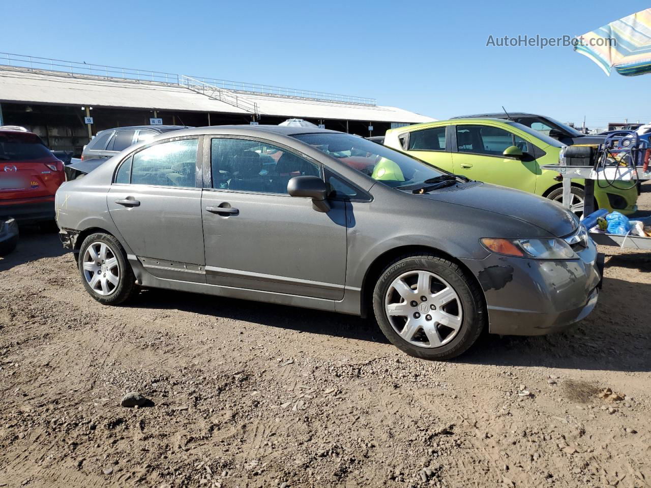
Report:
[[[134,185],[194,187],[198,142],[197,139],[161,142],[135,153],[131,182]]]

